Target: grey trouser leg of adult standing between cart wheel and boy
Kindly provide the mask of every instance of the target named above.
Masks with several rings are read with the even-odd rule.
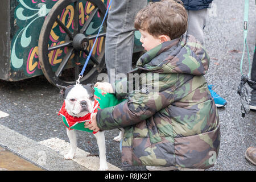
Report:
[[[131,71],[134,44],[134,18],[147,0],[113,0],[106,29],[105,62],[110,83]]]

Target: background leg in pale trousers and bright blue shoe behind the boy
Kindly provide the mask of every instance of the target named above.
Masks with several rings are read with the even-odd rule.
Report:
[[[203,29],[207,20],[207,9],[202,10],[187,10],[188,13],[188,30],[187,34],[191,34],[196,37],[202,44],[204,44],[204,32]],[[217,107],[223,107],[228,102],[224,98],[220,97],[216,92],[212,90],[213,85],[208,85],[210,94],[212,95]]]

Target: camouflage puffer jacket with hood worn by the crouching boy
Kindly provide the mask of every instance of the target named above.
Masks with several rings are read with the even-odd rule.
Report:
[[[149,78],[143,73],[158,73],[151,92],[121,94],[118,89],[127,82],[123,79],[115,89],[127,100],[96,115],[102,130],[125,129],[123,166],[212,167],[220,146],[220,126],[203,76],[209,67],[205,49],[193,36],[183,35],[144,53],[136,67],[140,78]]]

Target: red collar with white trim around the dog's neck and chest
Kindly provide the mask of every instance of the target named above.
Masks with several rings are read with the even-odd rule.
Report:
[[[66,121],[67,121],[67,125],[64,125],[69,129],[72,130],[71,127],[75,126],[77,123],[81,123],[81,122],[86,122],[86,121],[90,121],[90,115],[92,113],[97,113],[98,109],[100,109],[100,104],[98,103],[98,101],[96,99],[94,99],[94,106],[93,106],[93,111],[92,113],[88,113],[86,114],[84,117],[73,117],[72,115],[68,114],[68,111],[65,109],[65,101],[63,102],[63,105],[61,106],[61,109],[58,113],[58,115],[62,115],[65,117]],[[97,132],[93,131],[93,134],[95,134]]]

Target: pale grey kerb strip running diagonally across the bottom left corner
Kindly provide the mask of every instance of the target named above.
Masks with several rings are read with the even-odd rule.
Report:
[[[73,160],[71,161],[71,166],[63,164],[61,161],[63,160],[63,156],[58,152],[1,124],[0,146],[6,146],[10,150],[14,151],[15,154],[21,155],[28,159],[28,161],[38,164],[39,166],[42,165],[42,168],[45,168],[49,171],[80,171],[87,169]]]

